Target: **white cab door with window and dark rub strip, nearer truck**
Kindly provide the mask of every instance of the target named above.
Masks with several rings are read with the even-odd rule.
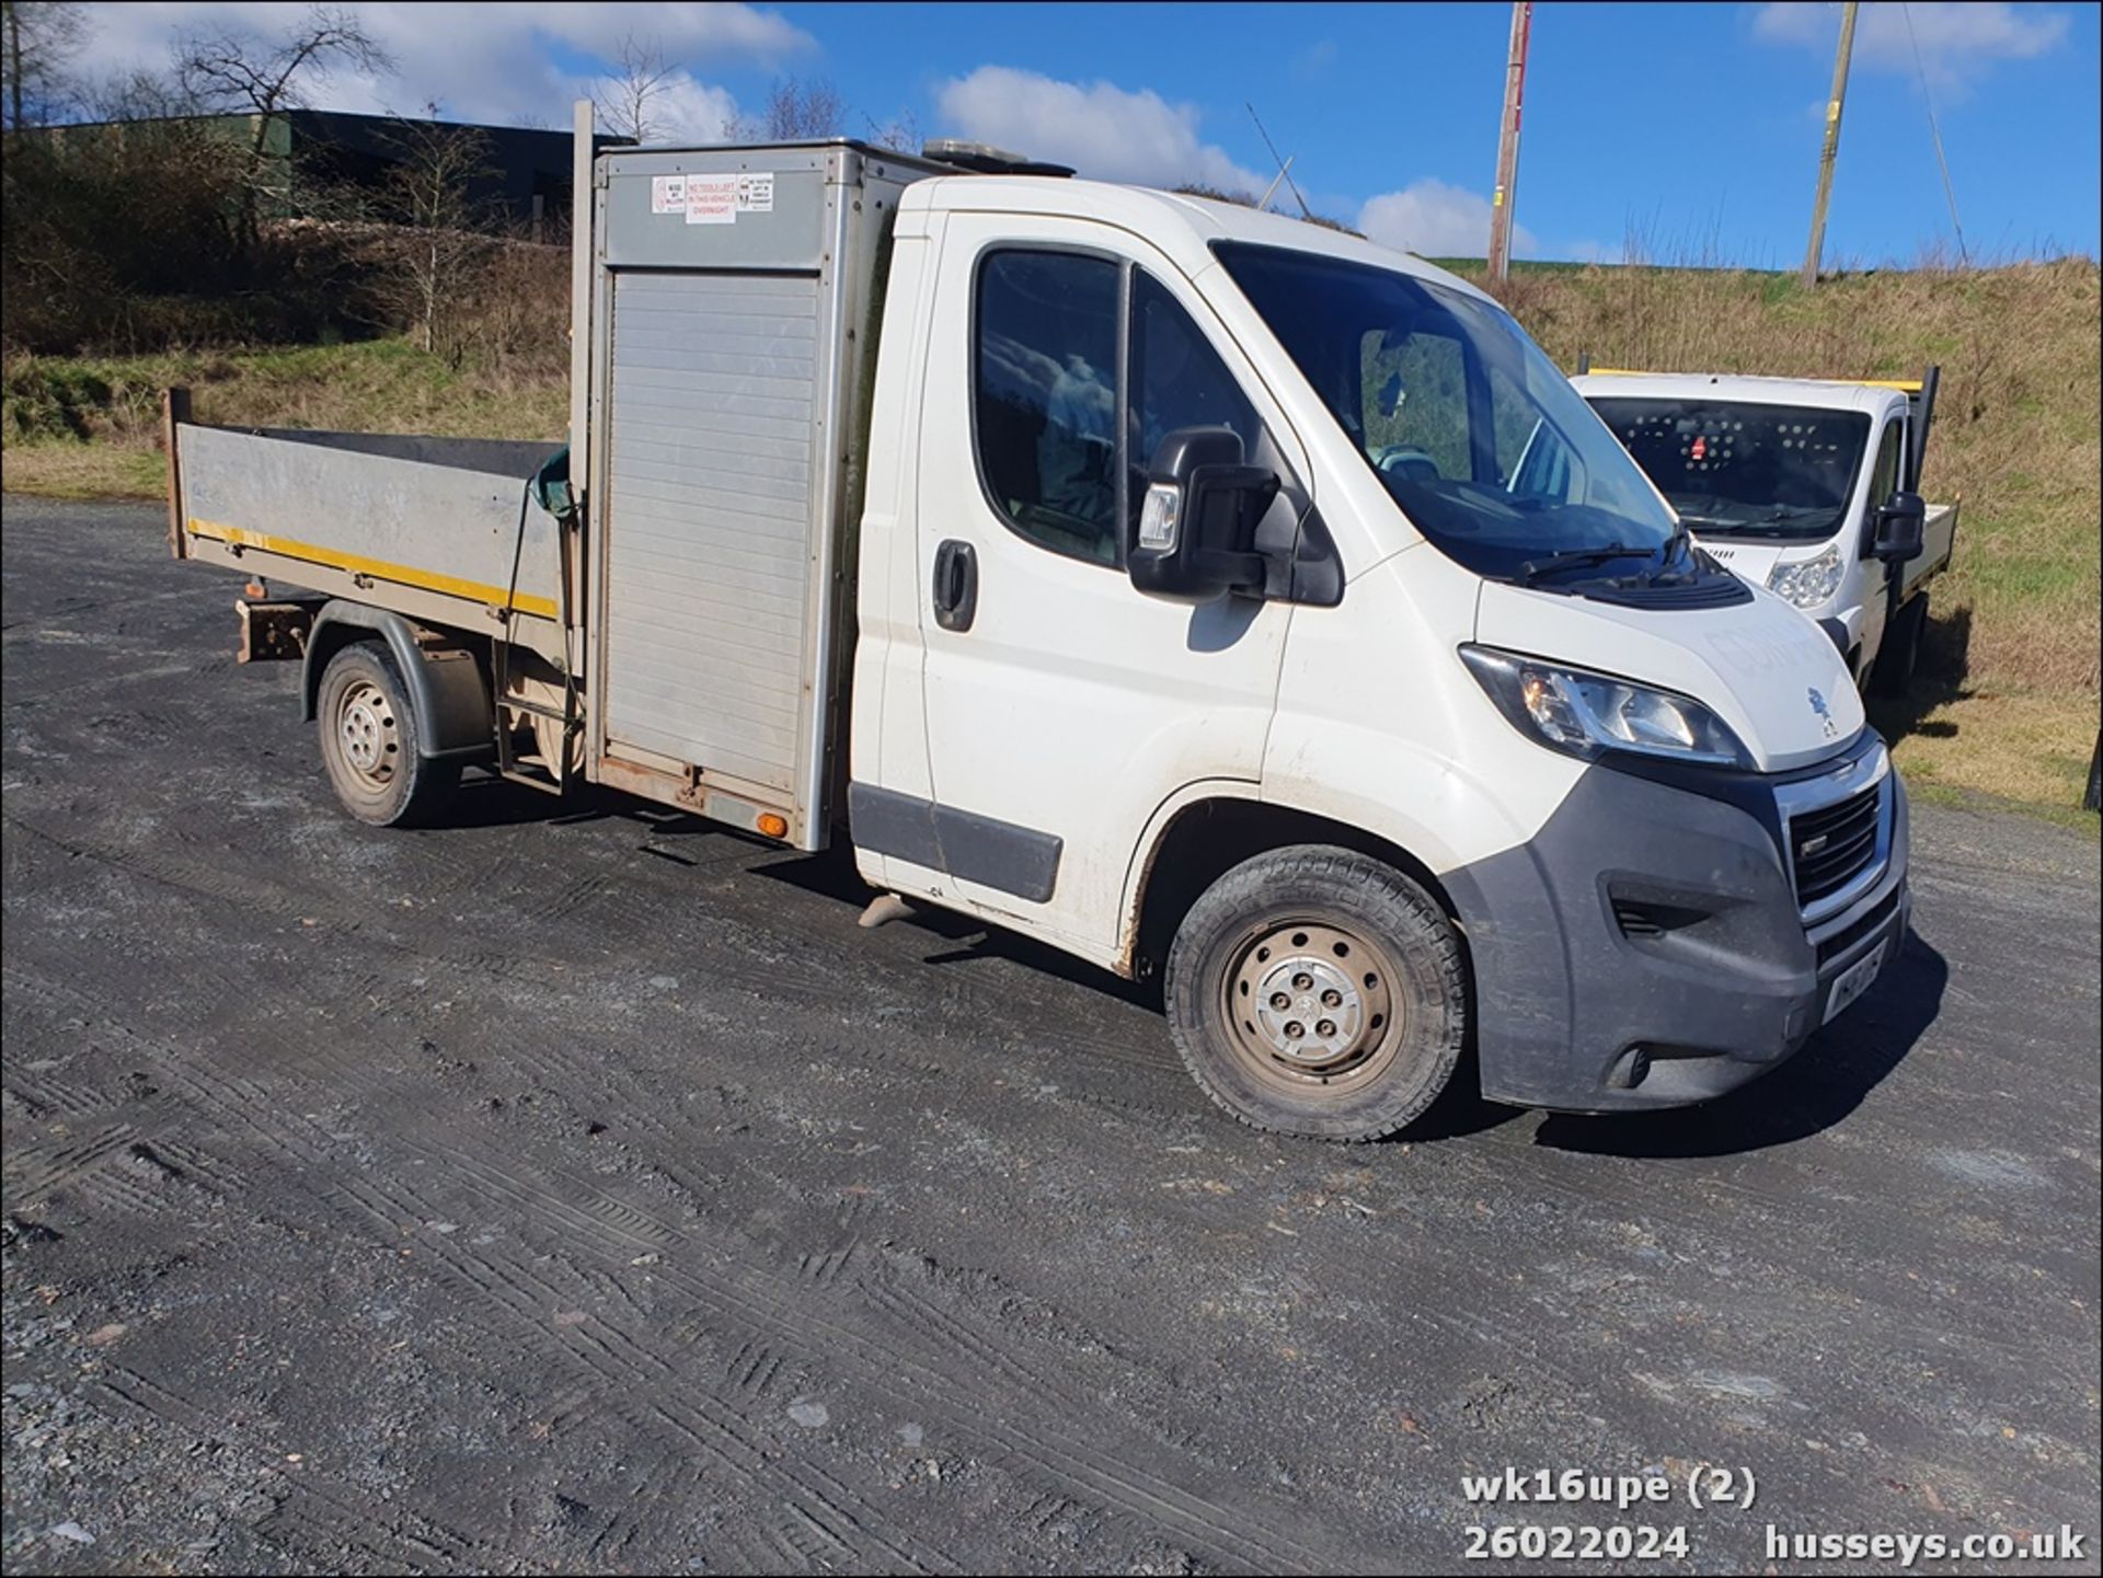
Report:
[[[911,859],[923,891],[1108,962],[1163,801],[1258,780],[1291,618],[1131,586],[1146,460],[1178,427],[1224,424],[1287,479],[1306,462],[1197,292],[1123,231],[953,212],[932,321],[917,536],[934,803]]]

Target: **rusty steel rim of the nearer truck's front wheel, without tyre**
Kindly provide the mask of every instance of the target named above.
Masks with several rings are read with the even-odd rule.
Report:
[[[1232,952],[1222,990],[1237,1061],[1300,1097],[1377,1078],[1409,1030],[1401,964],[1333,920],[1251,929]]]

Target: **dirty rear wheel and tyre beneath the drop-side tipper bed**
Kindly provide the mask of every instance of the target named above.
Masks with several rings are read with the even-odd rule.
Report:
[[[360,822],[429,822],[461,782],[458,763],[421,752],[423,719],[387,647],[360,641],[330,658],[313,712],[328,782]]]

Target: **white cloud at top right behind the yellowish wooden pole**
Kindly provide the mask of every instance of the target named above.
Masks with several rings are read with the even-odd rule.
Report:
[[[1872,71],[1914,76],[1914,44],[1920,67],[1943,92],[1962,92],[1994,61],[2027,61],[2057,48],[2067,36],[2067,15],[2046,6],[2013,6],[1998,0],[1920,0],[1910,8],[1882,0],[1865,4],[1855,19],[1855,65]],[[1840,6],[1809,0],[1775,0],[1760,6],[1752,29],[1771,44],[1802,44],[1832,59],[1840,38]],[[1819,103],[1823,118],[1825,105]]]

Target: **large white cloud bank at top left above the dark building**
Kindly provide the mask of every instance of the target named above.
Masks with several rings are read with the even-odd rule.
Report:
[[[74,69],[90,80],[139,69],[164,71],[177,42],[191,34],[269,38],[309,15],[307,4],[284,0],[162,0],[90,4],[86,11],[88,42]],[[778,13],[749,4],[372,0],[358,4],[355,15],[393,57],[395,69],[383,76],[334,71],[311,80],[307,97],[320,109],[414,116],[435,103],[450,120],[566,126],[570,101],[589,92],[597,74],[566,71],[551,55],[564,53],[610,67],[622,40],[633,34],[637,42],[656,42],[665,61],[679,69],[673,101],[662,105],[667,122],[709,126],[719,107],[728,105],[728,95],[696,80],[692,67],[774,65],[816,46],[810,34]]]

